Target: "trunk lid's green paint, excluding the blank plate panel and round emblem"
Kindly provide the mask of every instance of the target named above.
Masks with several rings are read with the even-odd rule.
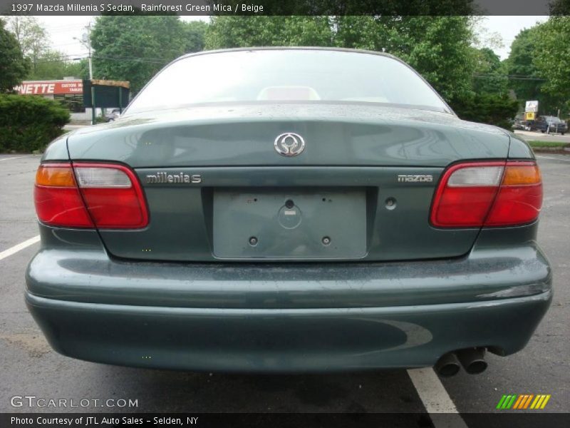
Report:
[[[272,150],[271,141],[286,129],[307,141],[302,156],[286,158]],[[152,217],[148,228],[100,232],[117,257],[223,260],[213,251],[208,221],[213,189],[324,186],[366,189],[369,239],[361,258],[380,261],[465,255],[477,229],[444,230],[427,223],[437,179],[455,161],[506,158],[509,136],[449,113],[288,104],[141,113],[76,131],[68,146],[74,161],[130,165],[145,187]],[[147,177],[157,173],[199,175],[202,180],[149,183]],[[431,175],[432,181],[399,183],[398,175],[407,173]],[[385,201],[391,198],[397,205],[387,210]],[[264,236],[266,241],[275,239]]]

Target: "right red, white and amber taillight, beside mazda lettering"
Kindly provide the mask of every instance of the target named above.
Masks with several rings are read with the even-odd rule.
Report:
[[[460,163],[442,176],[430,221],[439,228],[522,225],[538,218],[541,205],[536,163]]]

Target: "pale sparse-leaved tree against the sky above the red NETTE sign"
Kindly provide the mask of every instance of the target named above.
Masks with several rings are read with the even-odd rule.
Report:
[[[37,61],[48,50],[49,38],[46,29],[39,24],[35,16],[9,16],[8,23],[9,30],[16,36],[24,56],[30,59],[34,71]]]

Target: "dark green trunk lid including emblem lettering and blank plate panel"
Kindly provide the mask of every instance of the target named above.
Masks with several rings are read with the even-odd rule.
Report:
[[[289,132],[304,138],[299,156],[274,148]],[[100,231],[117,257],[381,261],[467,253],[478,229],[429,224],[437,180],[455,161],[506,158],[509,137],[410,108],[257,103],[126,116],[68,148],[140,178],[148,227]]]

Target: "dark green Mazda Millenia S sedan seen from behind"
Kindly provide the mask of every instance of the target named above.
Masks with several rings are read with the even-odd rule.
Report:
[[[524,141],[393,56],[202,52],[47,149],[26,302],[82,360],[481,372],[551,301],[541,199]]]

